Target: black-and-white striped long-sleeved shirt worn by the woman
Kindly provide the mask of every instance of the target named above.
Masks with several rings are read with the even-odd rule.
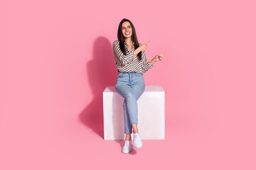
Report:
[[[139,45],[142,44],[139,43]],[[140,74],[144,74],[146,71],[154,67],[154,64],[150,65],[149,62],[146,62],[145,51],[142,51],[142,60],[140,61],[139,56],[134,56],[134,42],[130,51],[126,42],[124,42],[124,48],[127,52],[127,55],[124,55],[120,50],[119,40],[114,40],[113,52],[118,72],[137,72]]]

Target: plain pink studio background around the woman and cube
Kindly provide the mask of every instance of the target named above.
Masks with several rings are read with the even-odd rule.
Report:
[[[1,1],[0,169],[256,169],[255,1]],[[103,140],[130,19],[166,93],[166,139]],[[120,113],[122,114],[122,113]]]

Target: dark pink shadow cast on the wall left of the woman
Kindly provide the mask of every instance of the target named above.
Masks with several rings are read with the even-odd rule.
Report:
[[[87,128],[104,139],[103,91],[107,86],[115,85],[118,74],[110,40],[104,37],[95,40],[92,60],[87,62],[85,69],[90,84],[86,88],[92,91],[92,101],[79,114],[79,118]]]

